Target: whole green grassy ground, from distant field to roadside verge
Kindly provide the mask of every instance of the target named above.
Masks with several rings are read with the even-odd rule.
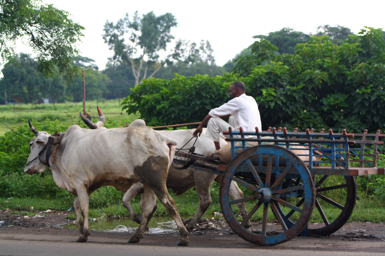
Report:
[[[97,117],[96,105],[96,101],[86,102],[87,112],[95,118]],[[55,106],[53,104],[40,104],[37,105],[36,108],[35,105],[32,104],[23,105],[22,109],[20,109],[20,105],[16,107],[18,107],[18,109],[15,109],[14,111],[13,105],[0,105],[0,136],[2,136],[6,131],[9,131],[9,127],[18,126],[19,124],[24,124],[25,126],[26,119],[32,119],[39,122],[46,119],[57,119],[60,122],[65,122],[69,125],[82,122],[79,117],[79,111],[82,111],[83,109],[83,104],[81,102],[77,104],[73,102],[59,103],[55,104]],[[119,106],[119,100],[99,101],[99,107],[104,112],[107,121],[114,122],[114,125],[116,126],[124,126],[126,121],[132,122],[133,120],[139,118],[139,115],[121,115],[122,109]],[[89,109],[91,111],[88,111]],[[26,129],[28,136],[31,136],[30,130],[27,127],[24,127],[23,129]],[[18,131],[19,130],[14,129],[12,131],[12,136],[8,136],[9,140],[5,140],[6,143],[3,145],[7,145],[7,143],[10,143],[10,145],[19,145],[17,140],[25,140],[25,138],[18,134]],[[5,137],[7,136],[3,136],[1,138]],[[25,159],[23,159],[23,157],[26,158],[29,154],[28,141],[29,139],[27,138],[25,141],[25,151],[17,151],[18,148],[16,146],[14,149],[10,150],[7,149],[8,146],[2,149],[4,152],[6,150],[9,151],[7,151],[6,154],[3,154],[3,152],[1,152],[2,150],[0,150],[0,188],[3,188],[0,189],[0,210],[10,208],[13,213],[17,214],[25,214],[25,212],[31,211],[30,207],[33,207],[33,210],[39,211],[47,209],[68,210],[72,206],[72,202],[75,197],[66,190],[57,188],[57,185],[53,181],[52,174],[48,170],[45,173],[35,175],[27,175],[23,173],[23,166],[25,164]],[[16,163],[17,161],[15,162],[12,159],[16,159],[20,163]],[[12,172],[10,172],[10,168],[8,168],[10,166],[10,162],[18,165],[18,167]],[[378,167],[383,168],[384,165],[385,155],[379,155]],[[342,181],[339,180],[341,178],[342,177],[330,178],[328,180],[328,182],[330,182],[328,186],[341,184]],[[377,182],[378,185],[376,187],[374,184],[372,185],[372,188],[368,190],[368,182]],[[383,188],[385,188],[385,180],[381,181],[376,175],[370,175],[369,177],[357,177],[357,185],[358,199],[355,210],[353,211],[349,221],[385,222],[385,197],[382,194]],[[377,190],[377,192],[373,192],[375,190]],[[181,215],[192,216],[192,214],[196,212],[199,200],[195,188],[191,188],[189,191],[180,196],[176,196],[171,190],[169,192],[175,199],[177,208]],[[100,218],[102,213],[105,213],[107,216],[128,216],[126,208],[124,208],[120,202],[122,196],[122,192],[115,190],[113,187],[102,187],[97,190],[90,196],[90,218]],[[245,194],[245,196],[249,195]],[[335,194],[328,196],[342,205],[345,204],[342,200],[343,196],[341,197],[341,195]],[[216,182],[211,185],[211,197],[213,199],[213,203],[208,208],[206,213],[213,214],[216,211],[220,212],[219,184]],[[293,200],[296,200],[296,198]],[[137,196],[134,199],[132,206],[137,213],[141,212],[140,196]],[[246,203],[248,211],[250,211],[253,206],[254,205],[250,202]],[[328,207],[328,205],[322,206],[323,210],[326,212],[326,216],[330,220],[335,219],[336,216],[340,214],[340,211],[335,208]],[[287,210],[287,208],[283,208],[283,211]],[[239,213],[238,208],[234,208],[234,211]],[[155,215],[168,215],[166,209],[159,203],[159,201]],[[74,217],[74,214],[69,215],[69,218]],[[261,221],[261,218],[261,211],[258,211],[258,214],[253,216],[253,220]],[[271,211],[269,211],[268,219],[274,219]],[[314,211],[311,222],[322,222],[321,216],[317,210]]]

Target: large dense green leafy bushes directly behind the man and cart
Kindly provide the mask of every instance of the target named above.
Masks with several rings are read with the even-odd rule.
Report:
[[[329,36],[310,38],[297,44],[295,54],[283,55],[268,40],[256,41],[251,56],[235,60],[232,74],[144,80],[124,100],[124,109],[139,112],[150,125],[201,121],[239,79],[258,102],[263,129],[384,129],[382,30],[365,27],[341,45]]]

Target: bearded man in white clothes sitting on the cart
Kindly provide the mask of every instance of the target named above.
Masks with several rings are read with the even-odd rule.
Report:
[[[259,115],[258,105],[255,99],[245,94],[246,86],[241,81],[236,81],[230,86],[229,96],[231,100],[220,107],[211,109],[209,114],[203,119],[198,128],[194,131],[193,136],[199,136],[202,128],[207,124],[206,137],[214,140],[216,150],[220,149],[219,134],[226,130],[239,131],[242,127],[245,132],[255,130],[255,127],[261,129],[261,117]],[[229,117],[229,122],[224,118]],[[230,137],[230,135],[224,135]],[[245,138],[253,136],[245,136]],[[219,159],[217,153],[207,155],[206,159]]]

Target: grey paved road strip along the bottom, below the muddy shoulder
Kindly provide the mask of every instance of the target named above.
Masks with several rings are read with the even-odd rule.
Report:
[[[47,232],[48,233],[48,232]],[[188,246],[176,246],[179,235],[145,235],[137,244],[127,243],[127,234],[119,236],[93,233],[86,243],[75,243],[77,236],[56,233],[0,233],[0,256],[355,256],[385,255],[385,241],[341,241],[297,237],[271,247],[249,244],[235,237],[190,236]],[[130,235],[131,236],[131,235]],[[331,244],[331,245],[329,245]]]

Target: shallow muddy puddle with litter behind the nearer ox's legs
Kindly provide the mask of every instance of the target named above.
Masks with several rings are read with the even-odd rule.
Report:
[[[189,219],[189,216],[182,216],[184,219]],[[75,223],[60,225],[64,228],[77,229]],[[106,221],[89,221],[90,230],[108,231],[108,232],[136,232],[139,224],[132,221],[131,218],[123,218],[119,220]],[[178,230],[174,220],[171,217],[152,217],[148,224],[149,233],[169,233]]]

